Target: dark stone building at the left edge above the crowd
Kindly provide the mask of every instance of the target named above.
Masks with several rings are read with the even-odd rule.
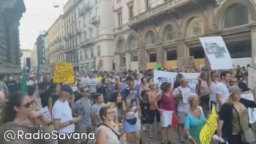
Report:
[[[21,73],[19,21],[23,0],[0,0],[0,74]]]

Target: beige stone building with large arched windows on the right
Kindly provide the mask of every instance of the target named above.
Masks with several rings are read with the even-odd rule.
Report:
[[[256,65],[255,0],[114,0],[114,4],[116,14],[129,13],[126,23],[132,29],[116,34],[116,67],[131,69],[127,64],[134,52],[141,69],[153,68],[154,63],[177,67],[177,58],[189,56],[200,68],[205,55],[199,37],[206,36],[222,36],[234,64]],[[137,46],[131,46],[127,36],[133,31]]]

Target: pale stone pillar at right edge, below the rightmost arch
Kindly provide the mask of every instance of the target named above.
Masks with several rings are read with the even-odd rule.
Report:
[[[256,67],[256,21],[251,26],[251,42],[252,42],[252,67]]]

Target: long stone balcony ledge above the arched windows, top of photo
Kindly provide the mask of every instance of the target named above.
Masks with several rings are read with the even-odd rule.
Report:
[[[171,0],[158,5],[157,4],[151,5],[150,9],[143,12],[138,12],[138,14],[135,14],[133,18],[130,18],[129,27],[133,27],[151,18],[156,18],[157,20],[163,17],[166,18],[166,15],[164,14],[175,12],[175,10],[181,7],[182,9],[186,9],[184,8],[185,5],[188,6],[188,4],[194,4],[194,3],[195,3],[194,0]]]

